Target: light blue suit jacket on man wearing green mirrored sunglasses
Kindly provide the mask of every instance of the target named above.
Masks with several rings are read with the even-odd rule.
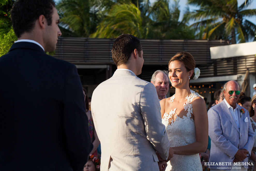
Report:
[[[244,109],[245,113],[240,117],[241,109]],[[238,112],[240,130],[224,101],[209,109],[208,122],[211,149],[208,162],[232,163],[238,149],[247,149],[251,155],[254,144],[254,132],[252,130],[249,112],[241,106],[238,106]],[[248,162],[248,158],[242,162]],[[247,168],[248,166],[244,167]]]

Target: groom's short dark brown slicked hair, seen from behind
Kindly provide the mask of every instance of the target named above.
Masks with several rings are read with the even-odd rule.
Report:
[[[126,64],[134,49],[141,55],[142,47],[140,40],[131,34],[122,34],[116,38],[112,46],[112,58],[116,66]]]

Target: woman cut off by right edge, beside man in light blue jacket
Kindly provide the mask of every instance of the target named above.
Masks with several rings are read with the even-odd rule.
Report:
[[[256,110],[254,110],[255,106],[256,106],[256,95],[252,97],[251,106],[249,109],[250,120],[252,123],[252,129],[254,132],[254,144],[253,144],[251,156],[249,158],[249,162],[252,162],[253,166],[249,166],[248,171],[256,170],[256,167],[254,167],[256,163]]]

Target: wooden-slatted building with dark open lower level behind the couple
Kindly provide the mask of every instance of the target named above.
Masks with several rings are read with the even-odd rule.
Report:
[[[58,39],[55,57],[75,64],[83,86],[89,96],[101,82],[109,79],[116,70],[112,60],[111,48],[115,39],[64,38]],[[198,80],[191,80],[191,89],[203,97],[211,99],[213,92],[220,89],[231,77],[242,79],[246,70],[256,73],[254,55],[211,58],[210,47],[228,45],[225,40],[140,40],[143,48],[143,80],[150,81],[155,70],[168,70],[168,62],[177,52],[187,51],[195,59],[196,67],[201,70]],[[229,45],[230,46],[230,45]],[[215,51],[215,49],[213,49]],[[222,78],[218,81],[218,77]],[[211,80],[210,78],[214,78]],[[205,82],[203,80],[205,80]],[[210,81],[209,81],[210,80]],[[255,76],[252,81],[255,83]],[[199,88],[200,87],[200,88]],[[170,94],[175,88],[170,88]],[[208,100],[209,101],[209,100]]]

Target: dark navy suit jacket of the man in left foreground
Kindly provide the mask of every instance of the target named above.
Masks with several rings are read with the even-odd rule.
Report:
[[[76,66],[17,42],[0,80],[0,170],[81,171],[93,145]]]

